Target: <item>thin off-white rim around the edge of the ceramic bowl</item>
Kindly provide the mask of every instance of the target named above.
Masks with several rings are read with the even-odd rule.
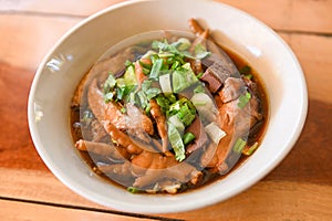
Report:
[[[166,1],[166,0],[160,0],[160,1]],[[198,1],[209,1],[209,0],[198,0]],[[33,99],[35,96],[35,90],[37,86],[39,84],[40,77],[43,74],[43,67],[45,66],[46,62],[49,61],[49,59],[51,57],[51,55],[54,53],[54,51],[68,39],[71,36],[71,34],[73,34],[74,32],[76,32],[82,25],[89,23],[90,21],[102,17],[103,14],[123,8],[123,7],[128,7],[132,4],[136,4],[136,3],[141,3],[141,2],[153,2],[153,0],[132,0],[132,1],[125,1],[125,2],[120,2],[116,4],[113,4],[111,7],[107,7],[105,9],[100,10],[98,12],[95,12],[94,14],[90,15],[89,18],[80,21],[77,24],[75,24],[74,27],[72,27],[69,31],[66,31],[59,40],[58,42],[51,48],[51,50],[46,53],[46,55],[43,57],[42,62],[40,63],[37,72],[35,72],[35,76],[33,78],[33,82],[31,84],[31,88],[30,88],[30,94],[29,94],[29,98],[28,98],[28,123],[29,123],[29,128],[30,128],[30,134],[33,140],[33,144],[35,146],[35,149],[38,150],[40,157],[43,159],[44,164],[48,166],[48,168],[52,171],[53,175],[55,175],[55,177],[61,180],[63,183],[65,183],[66,187],[69,187],[71,190],[73,190],[74,192],[79,193],[80,196],[83,196],[84,198],[90,199],[91,201],[94,201],[96,203],[101,202],[98,200],[95,200],[93,197],[86,194],[83,189],[77,189],[74,188],[71,182],[69,180],[66,180],[65,177],[62,176],[62,171],[59,170],[58,167],[54,167],[54,165],[52,162],[50,162],[50,158],[46,155],[46,150],[42,147],[42,141],[40,139],[40,135],[38,134],[38,129],[37,129],[37,125],[34,122],[34,107],[33,107]],[[294,130],[294,134],[292,135],[292,138],[289,139],[289,143],[287,145],[287,147],[283,149],[283,151],[281,152],[281,155],[278,157],[278,159],[273,160],[272,164],[269,167],[266,167],[263,169],[261,169],[260,172],[258,172],[255,177],[251,177],[251,179],[248,179],[247,182],[240,185],[237,189],[234,189],[232,191],[229,191],[229,193],[227,196],[222,197],[222,200],[226,200],[239,192],[242,192],[243,190],[250,188],[252,185],[255,185],[257,181],[259,181],[260,179],[262,179],[264,176],[267,176],[271,170],[273,170],[283,159],[284,157],[289,154],[289,151],[292,149],[292,147],[294,146],[295,141],[298,140],[304,123],[305,123],[305,118],[307,118],[307,114],[308,114],[308,91],[307,91],[307,83],[305,83],[305,77],[303,74],[303,71],[301,69],[301,65],[295,56],[295,54],[293,53],[293,51],[290,49],[290,46],[281,39],[280,35],[278,35],[271,28],[269,28],[268,25],[266,25],[264,23],[262,23],[261,21],[259,21],[258,19],[256,19],[255,17],[248,14],[247,12],[243,12],[237,8],[230,7],[228,4],[221,3],[221,2],[215,2],[218,4],[222,4],[225,8],[228,8],[230,10],[236,10],[239,13],[248,17],[249,19],[253,20],[255,22],[259,23],[259,25],[261,28],[263,28],[264,30],[267,30],[268,32],[270,32],[271,34],[274,35],[274,38],[281,42],[284,46],[284,49],[288,51],[288,53],[291,55],[295,69],[298,70],[298,72],[300,73],[300,81],[301,81],[301,85],[302,85],[302,97],[303,97],[303,103],[301,103],[302,107],[301,107],[301,113],[299,113],[299,118],[298,118],[298,125],[294,127],[297,128]],[[136,211],[134,212],[147,212],[147,213],[160,213],[160,212],[180,212],[180,211],[186,211],[186,210],[193,210],[193,209],[197,209],[197,208],[201,208],[201,207],[206,207],[209,204],[214,204],[216,202],[220,201],[220,196],[212,196],[209,197],[206,200],[203,200],[200,203],[197,203],[197,201],[195,201],[195,203],[187,203],[185,204],[183,208],[175,208],[174,206],[166,206],[166,208],[164,208],[163,210],[155,210],[155,211],[151,211],[149,208],[143,208],[143,207],[138,207]],[[126,204],[126,202],[124,203]],[[116,206],[116,204],[106,204],[107,207],[112,207],[114,209],[118,209],[118,210],[125,210],[123,206]],[[105,206],[105,204],[104,204]]]

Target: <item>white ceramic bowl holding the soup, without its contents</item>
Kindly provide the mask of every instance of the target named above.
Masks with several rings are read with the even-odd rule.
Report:
[[[226,179],[176,196],[132,194],[106,183],[80,158],[69,126],[70,102],[81,77],[112,45],[154,30],[189,31],[196,18],[215,38],[260,74],[270,119],[260,148]],[[270,28],[235,8],[204,0],[128,1],[110,7],[71,29],[40,64],[29,97],[29,126],[50,170],[76,193],[128,212],[169,213],[226,200],[259,181],[291,150],[307,116],[307,86],[297,57]]]

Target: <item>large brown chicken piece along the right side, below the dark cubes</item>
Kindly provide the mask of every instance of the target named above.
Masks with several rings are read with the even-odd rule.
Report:
[[[245,90],[243,90],[245,88]],[[216,146],[210,145],[204,152],[201,164],[219,173],[228,172],[237,162],[241,152],[232,151],[239,138],[247,139],[250,128],[261,118],[259,99],[251,94],[245,107],[239,107],[239,97],[246,92],[241,78],[229,77],[222,90],[216,95],[218,124],[227,136]]]

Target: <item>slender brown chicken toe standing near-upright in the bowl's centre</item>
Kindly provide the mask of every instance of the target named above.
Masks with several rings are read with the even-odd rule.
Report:
[[[158,134],[163,141],[162,151],[165,152],[168,149],[166,117],[162,112],[160,106],[157,104],[155,99],[151,99],[149,105],[151,105],[151,115],[156,120]]]

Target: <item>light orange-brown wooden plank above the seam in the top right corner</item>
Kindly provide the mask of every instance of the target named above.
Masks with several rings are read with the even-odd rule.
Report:
[[[219,1],[243,10],[277,30],[332,33],[332,0]]]

